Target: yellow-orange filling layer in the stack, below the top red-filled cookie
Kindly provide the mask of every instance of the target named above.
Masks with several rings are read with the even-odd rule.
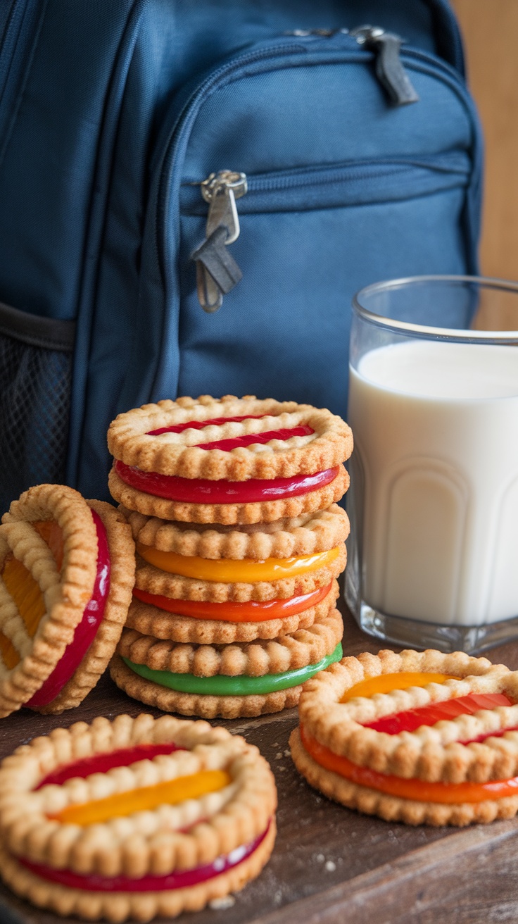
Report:
[[[235,583],[246,581],[254,583],[259,580],[279,580],[283,577],[295,577],[316,571],[338,557],[340,548],[313,555],[299,555],[295,558],[267,558],[264,562],[254,562],[250,558],[241,560],[229,558],[200,558],[198,555],[180,555],[175,552],[161,552],[150,545],[137,542],[139,555],[150,565],[182,577],[196,577],[199,580],[224,581]]]

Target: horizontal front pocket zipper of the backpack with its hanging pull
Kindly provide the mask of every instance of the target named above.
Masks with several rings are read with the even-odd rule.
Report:
[[[246,213],[275,211],[308,211],[312,208],[332,208],[347,204],[366,204],[367,196],[358,201],[358,184],[365,180],[384,178],[395,182],[397,198],[424,195],[437,189],[437,176],[451,177],[451,185],[461,185],[469,175],[469,157],[464,152],[447,152],[414,159],[394,158],[385,162],[359,161],[281,170],[270,174],[246,176],[230,170],[211,173],[201,182],[182,184],[182,212],[203,214],[202,199],[209,203],[206,237],[191,254],[196,261],[197,290],[201,308],[208,312],[222,307],[223,295],[230,292],[242,278],[242,273],[228,253],[227,245],[239,236],[236,199],[252,194]],[[196,195],[194,187],[201,191]],[[392,187],[393,188],[393,187]],[[440,188],[446,188],[443,184]],[[318,192],[316,192],[318,190]],[[394,193],[385,195],[394,198]],[[348,201],[349,200],[349,201]],[[352,200],[352,201],[351,201]]]

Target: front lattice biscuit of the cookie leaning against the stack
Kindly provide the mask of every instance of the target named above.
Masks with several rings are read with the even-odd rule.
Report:
[[[47,521],[61,530],[60,569],[32,525]],[[31,488],[4,515],[0,527],[0,715],[31,698],[72,640],[91,597],[96,572],[92,549],[96,548],[90,509],[71,488]],[[24,582],[29,597],[32,594],[30,608],[17,590]]]

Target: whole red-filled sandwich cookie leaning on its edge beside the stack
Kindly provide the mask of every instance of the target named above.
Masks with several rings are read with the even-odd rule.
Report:
[[[38,485],[0,527],[0,714],[77,706],[105,670],[135,576],[131,531],[109,504]]]

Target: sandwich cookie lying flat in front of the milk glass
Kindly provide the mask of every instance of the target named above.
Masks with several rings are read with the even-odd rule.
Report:
[[[518,672],[463,652],[344,658],[307,683],[297,769],[349,808],[465,825],[518,811]]]

